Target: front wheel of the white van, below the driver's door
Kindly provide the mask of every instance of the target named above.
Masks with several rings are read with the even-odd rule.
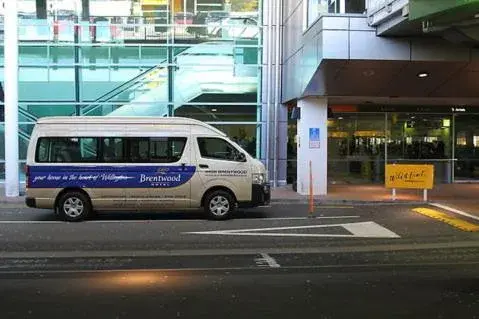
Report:
[[[229,192],[223,190],[212,191],[205,198],[204,209],[209,219],[229,219],[235,208],[236,202]]]

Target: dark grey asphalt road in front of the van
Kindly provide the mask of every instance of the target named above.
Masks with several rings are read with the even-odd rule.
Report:
[[[83,223],[0,208],[0,317],[478,318],[479,233],[413,208]]]

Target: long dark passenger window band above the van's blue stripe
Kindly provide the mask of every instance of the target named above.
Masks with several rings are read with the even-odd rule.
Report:
[[[42,137],[37,163],[174,163],[186,137]]]

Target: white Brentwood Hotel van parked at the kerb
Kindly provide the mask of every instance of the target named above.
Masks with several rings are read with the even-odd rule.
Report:
[[[269,204],[264,165],[218,129],[186,118],[50,117],[27,154],[29,207],[66,221],[95,211],[204,208],[211,219]]]

